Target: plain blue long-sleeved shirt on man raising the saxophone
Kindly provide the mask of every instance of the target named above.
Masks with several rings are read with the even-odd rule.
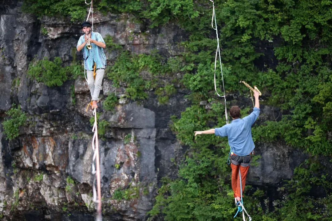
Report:
[[[254,107],[254,110],[248,116],[242,119],[232,120],[220,128],[214,129],[214,134],[220,137],[228,137],[228,144],[231,152],[239,156],[249,155],[255,148],[251,135],[251,126],[255,123],[260,109]]]

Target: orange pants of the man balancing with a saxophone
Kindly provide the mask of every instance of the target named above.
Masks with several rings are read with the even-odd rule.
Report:
[[[249,170],[249,166],[243,167],[240,165],[230,164],[232,168],[232,189],[234,191],[234,197],[241,197],[241,188],[240,188],[240,175],[239,168],[241,173],[241,182],[242,182],[242,195],[244,191],[244,186],[246,185],[247,173]]]

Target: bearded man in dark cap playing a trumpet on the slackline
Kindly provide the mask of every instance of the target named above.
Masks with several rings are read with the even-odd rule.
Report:
[[[98,108],[99,93],[104,77],[106,67],[106,56],[104,48],[106,48],[105,41],[100,33],[92,32],[90,30],[91,24],[83,22],[81,29],[84,34],[77,42],[77,51],[82,51],[84,59],[84,68],[87,70],[87,82],[91,93],[91,108]],[[94,66],[96,76],[94,78]]]

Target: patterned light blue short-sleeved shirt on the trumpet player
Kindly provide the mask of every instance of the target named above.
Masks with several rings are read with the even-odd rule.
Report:
[[[98,32],[91,32],[91,38],[103,42],[105,44],[105,41],[101,34]],[[76,48],[83,44],[85,41],[85,34],[83,34],[80,39],[77,42]],[[98,47],[96,44],[91,43],[92,48],[88,50],[86,46],[84,46],[83,50],[83,58],[86,59],[86,57],[89,55],[88,59],[84,61],[84,68],[85,70],[93,70],[93,63],[96,62],[97,68],[102,68],[106,66],[106,56],[104,54],[104,49],[102,47]],[[90,51],[90,52],[88,52]]]

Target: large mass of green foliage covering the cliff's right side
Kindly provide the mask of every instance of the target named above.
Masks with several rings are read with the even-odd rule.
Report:
[[[55,0],[53,5],[60,7],[59,2]],[[38,16],[51,14],[45,11],[47,4],[42,5],[40,1],[30,4],[30,11],[38,11],[35,13],[39,13]],[[285,197],[273,212],[257,206],[266,195],[264,191],[246,187],[246,192],[253,192],[246,196],[246,206],[251,208],[248,212],[253,220],[263,221],[329,220],[328,212],[324,211],[332,208],[331,178],[322,172],[324,166],[317,158],[332,155],[331,1],[228,0],[214,1],[214,4],[226,93],[248,93],[239,80],[259,85],[264,95],[262,103],[278,107],[282,112],[276,120],[253,128],[255,141],[282,140],[310,156],[308,162],[295,169],[293,179],[283,187]],[[107,39],[119,56],[114,66],[106,70],[106,75],[115,86],[126,88],[128,98],[145,99],[147,91],[152,89],[159,103],[165,104],[174,93],[175,84],[190,90],[187,98],[191,106],[180,118],[172,117],[170,125],[180,142],[189,147],[186,159],[179,165],[178,179],[163,179],[150,216],[163,214],[165,220],[178,221],[233,220],[230,169],[225,164],[227,139],[193,137],[195,130],[225,124],[224,104],[216,98],[213,88],[217,42],[211,37],[215,36],[210,27],[212,3],[101,0],[95,7],[105,13],[131,13],[137,20],[148,21],[151,27],[174,22],[189,35],[188,40],[181,43],[182,55],[170,58],[155,52],[130,54],[111,37]],[[64,14],[70,15],[66,7],[63,9]],[[85,8],[76,10],[85,13]],[[217,85],[222,85],[220,74],[217,65]],[[174,77],[178,75],[181,77]],[[160,88],[160,78],[165,76],[174,77],[174,82]],[[217,90],[221,93],[223,88],[218,86]],[[211,109],[199,105],[202,100],[208,101]],[[244,109],[242,116],[249,109]],[[323,177],[318,177],[321,173]],[[326,192],[326,197],[320,201],[310,197],[310,190],[316,186]],[[124,190],[117,190],[113,197],[120,200],[125,196]]]

